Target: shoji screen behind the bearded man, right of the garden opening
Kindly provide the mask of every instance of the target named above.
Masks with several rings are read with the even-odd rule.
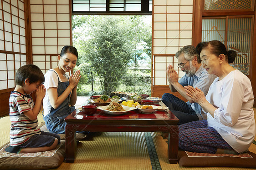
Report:
[[[154,0],[152,38],[152,95],[164,93],[159,88],[169,88],[167,66],[174,65],[179,78],[184,73],[178,69],[175,53],[192,43],[193,0]]]

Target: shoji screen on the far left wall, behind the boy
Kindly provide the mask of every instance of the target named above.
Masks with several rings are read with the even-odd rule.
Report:
[[[26,65],[24,0],[0,1],[0,90],[15,87],[15,71]]]

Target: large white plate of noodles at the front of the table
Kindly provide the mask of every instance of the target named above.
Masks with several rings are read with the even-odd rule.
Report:
[[[111,102],[109,105],[98,106],[97,109],[100,109],[104,113],[107,113],[110,115],[122,115],[124,113],[127,113],[128,111],[135,110],[137,108],[121,105],[117,102]]]

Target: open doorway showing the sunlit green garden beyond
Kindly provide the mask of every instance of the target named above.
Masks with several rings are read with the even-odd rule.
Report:
[[[152,15],[73,15],[77,96],[151,94]]]

